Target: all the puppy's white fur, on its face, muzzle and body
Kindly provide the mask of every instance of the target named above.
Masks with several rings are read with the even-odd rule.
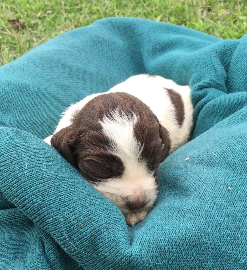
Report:
[[[178,92],[184,103],[185,119],[181,127],[176,120],[176,110],[166,89]],[[177,85],[172,80],[160,76],[149,76],[146,74],[132,76],[126,81],[112,87],[106,93],[125,92],[131,94],[150,107],[157,116],[160,123],[169,131],[171,139],[171,150],[187,142],[193,121],[193,105],[190,100],[190,88]],[[80,111],[87,102],[103,93],[97,93],[85,97],[83,100],[72,104],[63,113],[54,134],[64,127],[70,126],[71,117],[77,110]],[[94,184],[94,187],[105,197],[113,201],[124,213],[128,224],[134,225],[146,216],[157,197],[157,185],[152,172],[147,170],[145,163],[140,163],[138,157],[141,153],[140,146],[133,136],[133,126],[137,116],[120,115],[116,110],[112,117],[105,115],[100,121],[103,132],[112,144],[111,151],[121,158],[125,165],[125,171],[121,178],[111,178]],[[44,139],[50,144],[52,135]],[[126,208],[128,201],[145,201],[146,206],[140,210],[131,211]]]

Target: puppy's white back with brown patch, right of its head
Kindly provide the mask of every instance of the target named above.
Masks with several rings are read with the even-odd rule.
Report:
[[[185,144],[193,127],[190,87],[161,76],[140,74],[112,87],[107,93],[129,93],[145,103],[170,133],[171,152]]]

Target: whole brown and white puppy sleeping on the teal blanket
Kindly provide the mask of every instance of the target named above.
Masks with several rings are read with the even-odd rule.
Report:
[[[136,75],[68,107],[44,141],[133,226],[155,203],[159,163],[189,140],[192,113],[188,86]]]

